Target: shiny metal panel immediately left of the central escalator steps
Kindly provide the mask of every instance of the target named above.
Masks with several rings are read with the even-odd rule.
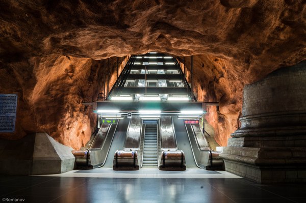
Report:
[[[140,117],[133,116],[130,122],[129,130],[126,134],[124,149],[138,149],[141,133],[142,120]]]

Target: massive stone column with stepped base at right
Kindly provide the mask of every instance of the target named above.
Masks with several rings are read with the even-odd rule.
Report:
[[[259,183],[306,182],[306,61],[246,85],[240,122],[220,155],[226,171]]]

